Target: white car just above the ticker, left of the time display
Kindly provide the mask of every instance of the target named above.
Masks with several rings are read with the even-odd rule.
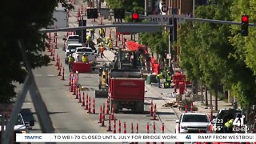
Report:
[[[183,133],[212,133],[213,126],[206,114],[183,113],[179,120],[176,120],[176,134]]]

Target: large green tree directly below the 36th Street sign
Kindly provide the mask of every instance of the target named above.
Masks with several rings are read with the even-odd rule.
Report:
[[[232,20],[230,15],[233,13],[229,9],[232,4],[232,1],[227,0],[218,1],[214,5],[199,6],[196,15],[198,18]],[[232,57],[236,52],[230,42],[230,38],[234,37],[234,34],[230,33],[230,26],[194,22],[195,30],[191,30],[192,26],[183,25],[182,29],[185,30],[182,30],[178,37],[181,63],[186,68],[188,77],[202,80],[202,82],[206,82],[206,86],[214,88],[215,99],[217,99],[219,86],[235,90],[234,87],[237,88],[242,84],[243,86],[240,87],[242,89],[236,90],[237,94],[248,94],[243,87],[246,86],[250,89],[254,86],[250,80],[254,79],[254,76],[246,68],[244,62]],[[184,43],[184,41],[186,42]],[[252,86],[248,87],[244,83],[245,80],[249,80]]]

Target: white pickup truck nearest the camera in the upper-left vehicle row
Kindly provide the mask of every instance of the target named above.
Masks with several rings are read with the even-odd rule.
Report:
[[[78,55],[80,59],[82,59],[82,55],[86,54],[89,62],[95,62],[96,61],[96,55],[94,54],[94,50],[90,47],[77,47],[74,52],[74,58],[76,61],[78,61]]]

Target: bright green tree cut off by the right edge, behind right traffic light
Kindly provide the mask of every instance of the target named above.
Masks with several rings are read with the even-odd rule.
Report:
[[[250,7],[250,9],[248,9]],[[230,10],[232,18],[241,22],[242,14],[249,15],[249,21],[255,19],[254,8],[256,7],[255,0],[235,0]],[[256,61],[255,61],[255,45],[256,30],[254,27],[249,28],[249,36],[242,37],[240,34],[240,26],[231,26],[231,33],[234,37],[230,37],[230,42],[234,46],[234,54],[231,55],[236,61],[244,65],[246,73],[240,74],[238,82],[234,84],[234,94],[244,106],[250,106],[256,103],[255,100],[255,74],[256,74]],[[249,109],[248,109],[249,110]]]

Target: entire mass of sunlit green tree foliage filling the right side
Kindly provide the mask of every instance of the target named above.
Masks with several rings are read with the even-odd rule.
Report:
[[[215,5],[199,6],[196,16],[241,21],[242,14],[254,14],[255,11],[248,11],[255,9],[248,7],[255,7],[255,3],[255,0],[222,0]],[[178,31],[178,46],[188,78],[201,80],[211,88],[225,86],[246,106],[248,102],[255,103],[256,43],[253,37],[241,37],[239,30],[240,26],[187,22]],[[253,28],[250,34],[255,34]]]

